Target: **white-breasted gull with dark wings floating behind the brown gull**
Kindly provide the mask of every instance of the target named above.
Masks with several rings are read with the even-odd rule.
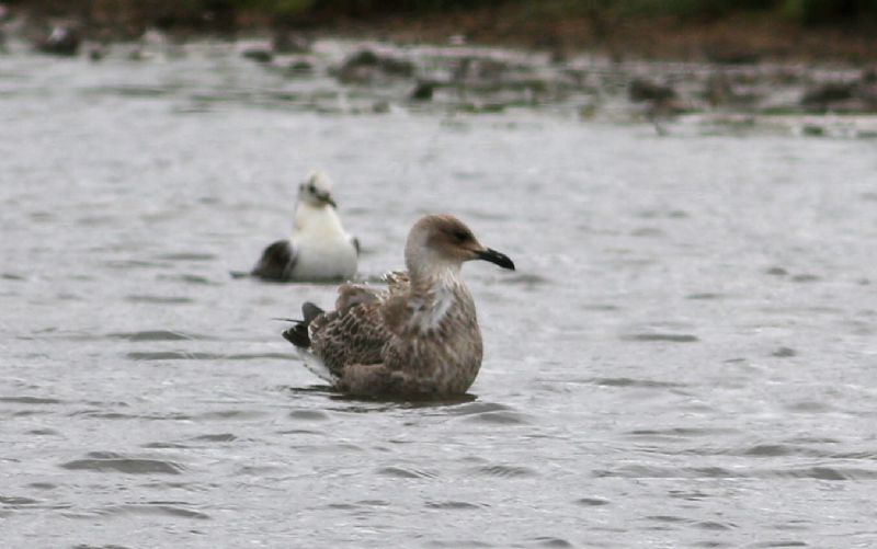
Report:
[[[345,281],[356,273],[358,241],[344,231],[335,214],[332,182],[308,173],[298,186],[293,235],[265,248],[250,272],[267,281]]]

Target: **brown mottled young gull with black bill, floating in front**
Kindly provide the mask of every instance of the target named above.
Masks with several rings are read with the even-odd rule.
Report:
[[[305,366],[355,396],[462,394],[481,366],[475,301],[460,276],[464,262],[485,260],[514,270],[451,215],[418,220],[405,245],[407,272],[387,288],[343,284],[333,311],[301,307],[304,320],[283,335]]]

